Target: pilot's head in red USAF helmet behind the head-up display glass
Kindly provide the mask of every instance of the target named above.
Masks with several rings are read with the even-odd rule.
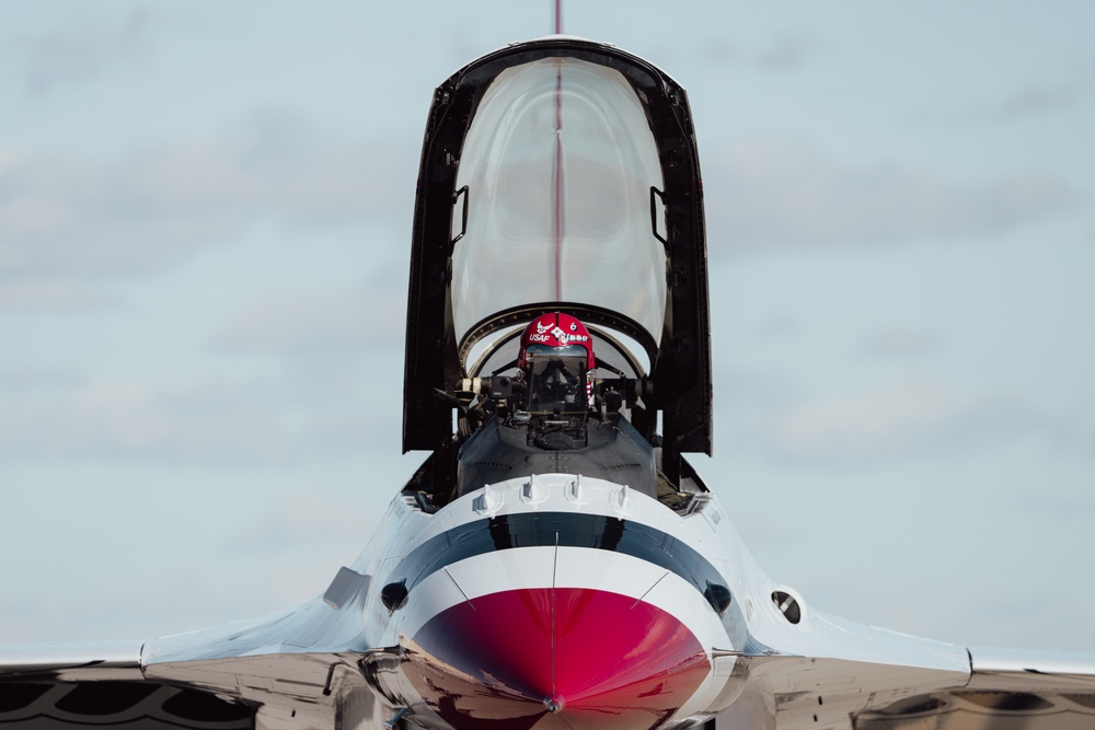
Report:
[[[529,384],[531,413],[585,412],[590,403],[593,339],[577,317],[542,314],[521,335],[517,367]]]

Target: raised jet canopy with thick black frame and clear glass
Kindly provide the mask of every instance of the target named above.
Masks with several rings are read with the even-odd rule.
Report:
[[[643,381],[670,462],[710,453],[703,230],[687,97],[657,68],[552,36],[458,71],[423,146],[404,450],[451,448],[454,383],[511,366],[525,326],[558,311]]]

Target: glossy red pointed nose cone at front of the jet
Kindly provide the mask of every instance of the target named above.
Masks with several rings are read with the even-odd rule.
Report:
[[[461,603],[428,622],[406,656],[412,684],[457,730],[650,730],[710,669],[673,616],[588,589]]]

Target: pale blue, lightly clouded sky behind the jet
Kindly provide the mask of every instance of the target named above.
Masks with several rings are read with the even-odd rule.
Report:
[[[546,2],[0,0],[0,642],[322,592],[402,455],[434,88]],[[689,91],[714,456],[808,606],[1095,652],[1095,5],[572,1]]]

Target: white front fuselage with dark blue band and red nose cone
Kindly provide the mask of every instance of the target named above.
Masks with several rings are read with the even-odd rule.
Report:
[[[388,544],[359,569],[383,587],[366,637],[401,657],[388,700],[416,722],[660,728],[733,702],[753,568],[748,555],[735,566],[708,495],[682,515],[626,486],[550,474],[433,514],[408,502],[393,503]]]

